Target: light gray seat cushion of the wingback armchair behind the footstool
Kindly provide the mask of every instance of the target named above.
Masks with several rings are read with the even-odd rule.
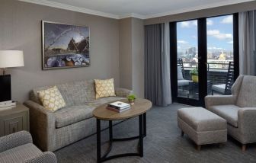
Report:
[[[238,110],[240,107],[235,105],[213,105],[210,110],[228,121],[232,126],[238,127]]]

